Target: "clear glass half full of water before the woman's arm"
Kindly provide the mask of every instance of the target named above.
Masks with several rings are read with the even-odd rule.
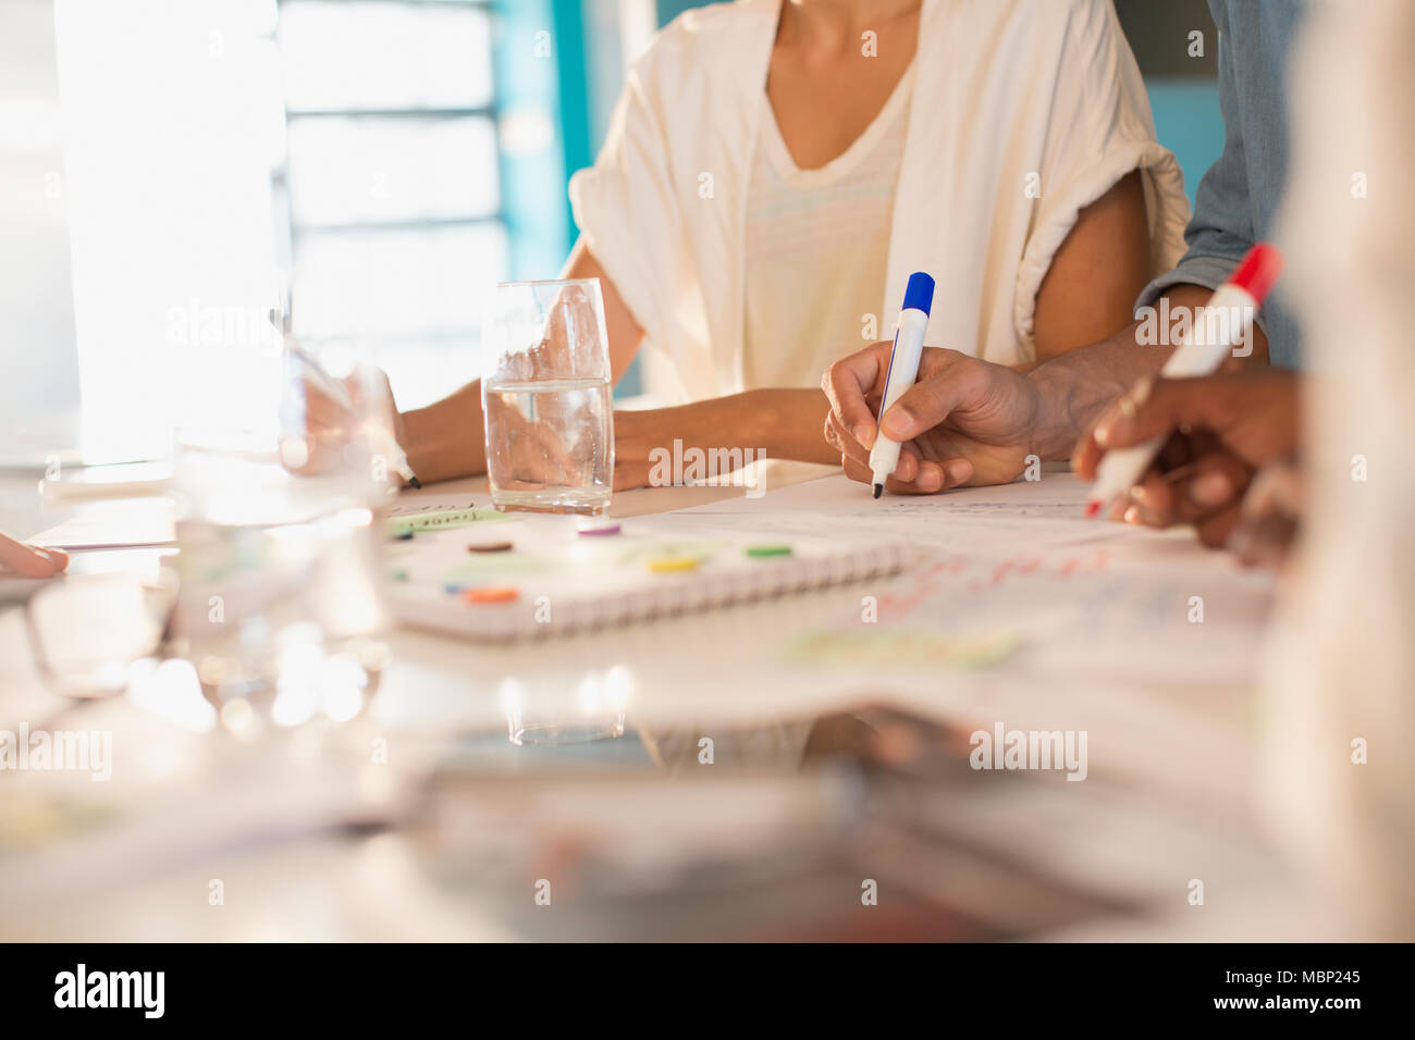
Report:
[[[492,504],[604,512],[614,483],[614,412],[600,280],[498,284],[481,349]]]

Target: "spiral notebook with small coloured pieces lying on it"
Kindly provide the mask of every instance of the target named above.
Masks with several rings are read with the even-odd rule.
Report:
[[[473,640],[538,640],[712,610],[901,570],[901,542],[675,528],[671,518],[514,518],[419,532],[389,550],[403,624]]]

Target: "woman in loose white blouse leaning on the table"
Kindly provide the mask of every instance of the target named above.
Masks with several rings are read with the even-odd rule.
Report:
[[[570,200],[616,378],[649,344],[685,402],[616,415],[618,488],[674,440],[838,461],[821,374],[890,334],[910,272],[931,344],[1029,366],[1129,323],[1189,219],[1109,0],[689,11]],[[477,383],[399,416],[423,480],[483,471],[481,429]]]

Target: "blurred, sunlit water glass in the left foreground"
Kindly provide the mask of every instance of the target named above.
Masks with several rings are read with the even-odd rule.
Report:
[[[259,349],[208,348],[195,372],[173,467],[171,649],[238,736],[350,719],[386,664],[372,637],[386,624],[375,511],[392,494],[389,439],[354,420],[317,474],[291,473],[310,395],[273,325]]]

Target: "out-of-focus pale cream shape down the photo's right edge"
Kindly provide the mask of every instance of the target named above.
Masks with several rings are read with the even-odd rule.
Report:
[[[1315,8],[1290,82],[1309,519],[1266,675],[1268,804],[1350,938],[1415,938],[1415,6]]]

